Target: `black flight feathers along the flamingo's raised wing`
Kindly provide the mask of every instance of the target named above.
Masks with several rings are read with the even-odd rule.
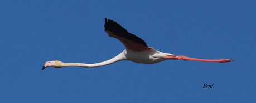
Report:
[[[126,29],[124,29],[121,25],[119,25],[117,22],[113,20],[105,18],[104,28],[105,30],[109,30],[110,32],[114,33],[114,35],[132,40],[133,42],[136,42],[148,47],[147,43],[144,42],[144,40],[142,40],[141,38],[137,37],[132,33],[129,33]]]

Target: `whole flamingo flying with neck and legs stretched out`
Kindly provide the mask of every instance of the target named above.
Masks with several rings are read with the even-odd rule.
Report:
[[[55,60],[55,61],[47,61],[42,70],[47,67],[54,67],[54,68],[62,68],[66,66],[80,66],[80,67],[87,67],[87,68],[94,68],[104,65],[109,65],[116,63],[122,60],[129,60],[133,61],[134,63],[142,63],[142,64],[154,64],[159,63],[165,60],[192,60],[192,61],[206,61],[206,62],[217,62],[217,63],[226,63],[230,61],[234,61],[232,59],[219,59],[219,60],[209,60],[209,59],[196,59],[196,58],[189,58],[187,56],[176,56],[170,53],[163,53],[157,51],[152,47],[148,47],[147,43],[144,42],[141,38],[137,37],[136,35],[129,33],[125,28],[119,25],[114,20],[110,20],[105,18],[105,25],[104,25],[105,32],[108,33],[109,37],[114,37],[120,42],[122,42],[125,46],[125,49],[122,53],[118,54],[112,59],[107,61],[103,61],[100,63],[95,64],[84,64],[84,63],[63,63],[62,61]]]

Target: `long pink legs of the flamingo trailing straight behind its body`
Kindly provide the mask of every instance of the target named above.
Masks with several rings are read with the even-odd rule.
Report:
[[[166,56],[166,57],[163,57],[163,58],[183,59],[183,60],[192,60],[192,61],[205,61],[205,62],[219,62],[219,63],[234,61],[234,60],[231,60],[231,59],[219,59],[219,60],[196,59],[196,58],[189,58],[189,57],[186,57],[186,56]]]

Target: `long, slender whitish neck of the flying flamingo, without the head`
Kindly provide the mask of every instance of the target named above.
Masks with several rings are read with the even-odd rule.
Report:
[[[109,65],[112,63],[115,63],[117,61],[122,61],[122,60],[126,60],[126,56],[124,54],[124,52],[120,53],[119,55],[115,56],[112,59],[109,59],[107,61],[103,61],[100,63],[95,63],[95,64],[84,64],[84,63],[64,63],[61,66],[65,67],[65,66],[80,66],[80,67],[89,67],[89,68],[93,68],[93,67],[99,67],[99,66],[104,66],[104,65]]]

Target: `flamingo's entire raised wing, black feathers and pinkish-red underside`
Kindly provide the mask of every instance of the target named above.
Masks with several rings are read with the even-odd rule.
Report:
[[[114,37],[120,40],[125,46],[125,48],[134,51],[144,51],[149,50],[147,43],[136,35],[129,33],[121,25],[113,20],[105,18],[104,25],[105,32],[108,33],[109,37]]]

